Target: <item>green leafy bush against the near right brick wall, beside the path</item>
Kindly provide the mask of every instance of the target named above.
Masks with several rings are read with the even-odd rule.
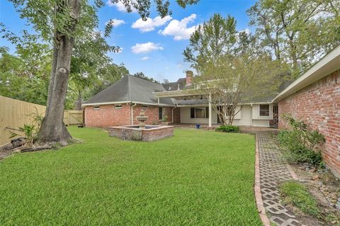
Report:
[[[324,136],[317,130],[308,128],[303,121],[295,120],[289,115],[284,115],[283,118],[292,127],[291,130],[282,130],[278,133],[278,142],[287,150],[285,156],[288,161],[321,165],[319,145],[324,142]]]

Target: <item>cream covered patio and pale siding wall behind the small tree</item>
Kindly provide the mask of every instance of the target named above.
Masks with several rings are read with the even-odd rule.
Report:
[[[162,102],[162,98],[174,100],[176,108],[180,108],[181,124],[200,124],[204,128],[216,128],[221,124],[217,116],[218,112],[212,106],[211,96],[200,89],[178,89],[153,94],[159,103]],[[272,125],[277,125],[277,111],[277,106],[271,103],[270,98],[257,99],[250,103],[237,103],[232,125],[244,128],[273,127]]]

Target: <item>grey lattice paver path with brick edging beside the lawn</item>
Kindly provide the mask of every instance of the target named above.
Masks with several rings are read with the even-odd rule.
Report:
[[[295,215],[280,203],[278,185],[297,179],[268,133],[256,133],[255,198],[263,225],[300,226]]]

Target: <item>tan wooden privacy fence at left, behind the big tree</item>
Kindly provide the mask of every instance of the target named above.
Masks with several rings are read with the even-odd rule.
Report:
[[[30,114],[36,111],[39,114],[45,115],[46,107],[0,96],[0,145],[11,141],[8,138],[11,136],[10,130],[6,128],[17,129],[18,126],[32,124],[33,119],[30,117]],[[83,123],[83,111],[64,111],[64,123],[66,125]]]

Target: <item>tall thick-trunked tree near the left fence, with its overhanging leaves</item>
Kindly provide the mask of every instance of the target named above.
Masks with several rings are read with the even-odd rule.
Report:
[[[67,145],[72,139],[62,122],[64,103],[70,73],[74,40],[91,35],[98,26],[96,9],[104,5],[101,0],[91,4],[86,0],[11,0],[22,18],[26,18],[44,40],[53,45],[52,70],[47,96],[45,118],[39,132],[39,142]],[[112,0],[118,2],[119,0]],[[196,4],[198,0],[177,0],[181,7]],[[121,1],[128,11],[137,9],[143,19],[149,16],[150,0]],[[164,17],[171,13],[169,1],[155,0],[159,14]],[[106,35],[110,33],[112,24],[108,23]]]

